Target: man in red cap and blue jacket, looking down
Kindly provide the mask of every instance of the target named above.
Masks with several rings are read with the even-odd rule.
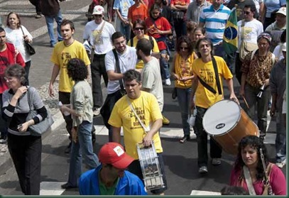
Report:
[[[138,176],[126,171],[133,158],[119,143],[106,143],[99,150],[99,165],[84,172],[79,181],[80,195],[147,195]]]

